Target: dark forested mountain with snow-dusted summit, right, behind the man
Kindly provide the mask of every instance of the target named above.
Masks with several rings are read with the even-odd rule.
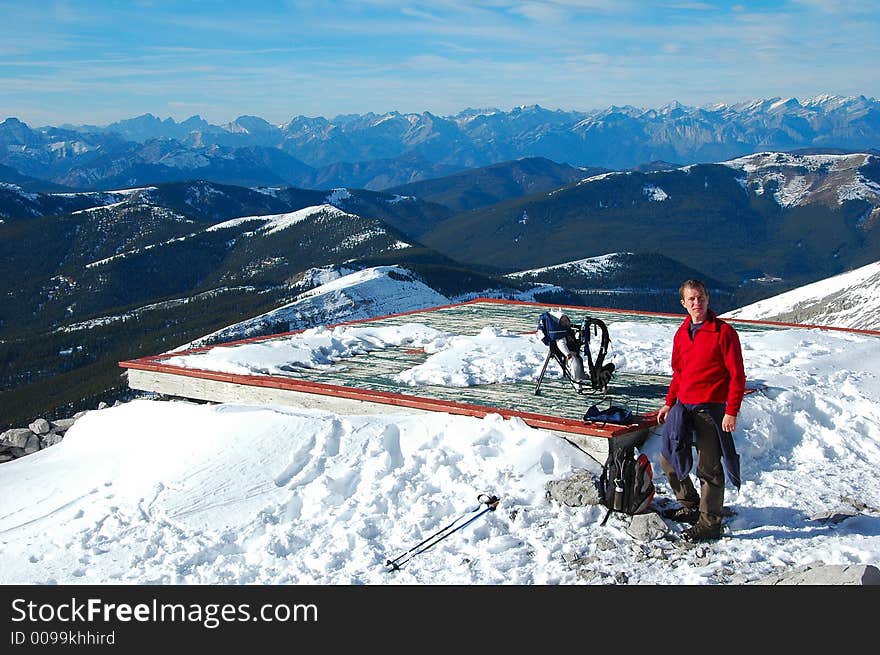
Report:
[[[728,285],[799,286],[877,260],[878,228],[876,155],[759,153],[592,176],[456,214],[421,240],[504,272],[656,251]]]

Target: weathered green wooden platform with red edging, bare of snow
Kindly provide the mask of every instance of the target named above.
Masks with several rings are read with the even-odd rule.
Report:
[[[506,328],[514,333],[535,331],[538,317],[559,305],[542,305],[516,301],[478,299],[471,302],[385,316],[346,324],[400,325],[423,323],[432,328],[458,335],[476,335],[486,326]],[[678,325],[682,316],[649,314],[585,307],[563,308],[575,323],[584,316],[602,319],[614,340],[615,321],[670,322]],[[737,329],[772,329],[771,327],[735,322]],[[535,394],[536,381],[514,384],[485,384],[469,387],[418,386],[395,382],[393,376],[425,361],[427,355],[408,348],[383,348],[345,359],[343,366],[331,371],[297,369],[289,375],[236,375],[217,371],[183,368],[167,363],[170,357],[197,353],[212,348],[230,348],[242,343],[284,339],[273,335],[226,343],[191,351],[165,353],[137,360],[120,362],[128,371],[133,389],[164,395],[208,400],[260,404],[285,404],[328,409],[339,413],[388,413],[395,407],[417,411],[448,412],[469,416],[500,414],[519,417],[528,425],[570,435],[608,437],[647,430],[656,424],[656,412],[663,404],[669,378],[615,372],[608,396],[578,394],[559,377],[545,377],[540,395]],[[550,367],[555,367],[550,362]],[[338,369],[338,370],[337,370]],[[623,405],[634,414],[630,425],[585,423],[587,408],[608,402]],[[604,450],[604,447],[602,448]]]

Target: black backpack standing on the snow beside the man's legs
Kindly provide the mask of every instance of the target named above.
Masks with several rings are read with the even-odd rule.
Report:
[[[599,477],[599,499],[608,508],[602,525],[611,512],[643,514],[654,499],[654,472],[644,453],[635,456],[636,445],[628,435],[608,440],[608,458]]]

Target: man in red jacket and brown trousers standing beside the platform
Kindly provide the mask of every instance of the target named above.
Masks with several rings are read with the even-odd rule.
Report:
[[[739,335],[709,309],[706,285],[686,280],[679,295],[688,317],[672,342],[672,382],[657,422],[665,424],[660,468],[681,507],[664,516],[693,524],[682,533],[684,539],[709,541],[721,536],[725,471],[735,487],[740,485],[731,433],[746,377]],[[694,446],[699,494],[690,478]]]

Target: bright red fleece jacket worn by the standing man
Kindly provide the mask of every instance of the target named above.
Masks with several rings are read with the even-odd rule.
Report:
[[[688,316],[672,340],[666,404],[672,407],[676,399],[684,404],[727,403],[725,413],[736,416],[746,390],[739,335],[711,310],[693,341],[690,326]]]

